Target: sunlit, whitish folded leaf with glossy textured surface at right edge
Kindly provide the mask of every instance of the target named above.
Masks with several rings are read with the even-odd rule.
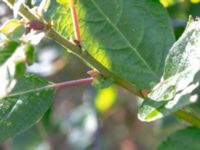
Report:
[[[139,118],[153,121],[189,105],[198,98],[200,81],[200,20],[190,20],[171,48],[163,81],[156,85],[139,110]]]

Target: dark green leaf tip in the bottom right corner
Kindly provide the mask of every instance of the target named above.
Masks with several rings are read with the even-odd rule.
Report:
[[[200,129],[188,127],[170,135],[158,150],[199,150]]]

